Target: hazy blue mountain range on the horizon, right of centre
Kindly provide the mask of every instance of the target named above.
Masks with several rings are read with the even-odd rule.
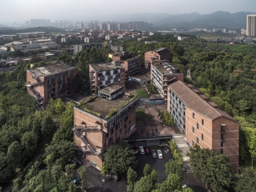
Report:
[[[230,13],[226,11],[217,11],[211,14],[199,14],[192,12],[190,14],[167,14],[167,13],[124,13],[124,14],[108,14],[98,16],[97,20],[114,20],[117,22],[144,21],[153,23],[154,28],[166,30],[172,26],[173,28],[246,28],[246,15],[256,14],[256,12],[236,12]]]

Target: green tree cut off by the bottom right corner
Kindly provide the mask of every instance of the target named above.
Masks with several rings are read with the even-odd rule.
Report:
[[[243,168],[237,176],[235,190],[237,192],[256,191],[256,173],[251,168]]]

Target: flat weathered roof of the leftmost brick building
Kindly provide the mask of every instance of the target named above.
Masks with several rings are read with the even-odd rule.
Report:
[[[37,77],[51,76],[53,74],[59,74],[67,70],[74,69],[76,67],[70,67],[62,62],[49,64],[46,66],[39,66],[38,68],[28,69],[29,72],[34,74]]]

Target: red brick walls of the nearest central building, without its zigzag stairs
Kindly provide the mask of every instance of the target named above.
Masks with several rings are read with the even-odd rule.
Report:
[[[131,135],[136,130],[135,113],[135,110],[133,110],[130,114],[127,115],[126,122],[123,119],[113,129],[107,130],[107,128],[105,128],[105,124],[107,123],[106,120],[103,120],[102,118],[89,114],[88,112],[75,107],[74,127],[84,126],[85,128],[88,128],[99,126],[101,128],[101,130],[86,130],[86,132],[84,132],[86,139],[90,143],[91,147],[93,147],[96,151],[101,150],[101,154],[98,156],[91,153],[91,151],[86,152],[86,158],[97,164],[97,166],[102,167],[102,154],[107,149],[107,147],[129,137],[129,135]],[[74,142],[78,148],[85,147],[87,149],[84,141],[77,137],[75,133]]]

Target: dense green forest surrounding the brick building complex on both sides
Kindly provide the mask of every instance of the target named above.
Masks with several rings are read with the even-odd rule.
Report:
[[[256,158],[256,46],[207,43],[193,35],[178,41],[169,34],[155,34],[148,40],[158,43],[145,44],[136,39],[116,42],[125,51],[140,55],[142,66],[145,52],[159,47],[170,49],[171,62],[184,74],[190,70],[192,78],[185,78],[185,81],[198,87],[240,122],[240,164],[253,167]],[[64,53],[58,60],[78,66],[80,94],[86,95],[89,93],[89,64],[110,61],[109,53],[108,48],[93,47],[80,51],[74,58]],[[43,64],[45,62],[38,62],[34,67]],[[51,176],[57,178],[57,190],[68,191],[72,183],[63,184],[68,179],[57,172],[65,170],[72,175],[74,170],[68,163],[74,156],[70,130],[73,104],[58,99],[51,101],[44,112],[36,111],[34,98],[26,94],[24,86],[28,68],[30,64],[18,64],[13,72],[0,73],[0,185],[13,180],[13,191],[18,191],[22,184],[28,191],[42,191],[38,187],[45,187],[42,174],[46,174],[47,180]],[[47,170],[39,174],[43,165]],[[83,174],[84,170],[80,172]],[[255,179],[254,172],[243,172]]]

